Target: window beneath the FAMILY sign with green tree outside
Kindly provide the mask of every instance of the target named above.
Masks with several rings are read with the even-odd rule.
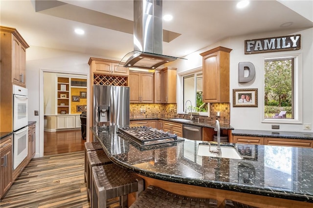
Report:
[[[265,58],[264,120],[274,122],[299,121],[300,67],[298,57]]]

